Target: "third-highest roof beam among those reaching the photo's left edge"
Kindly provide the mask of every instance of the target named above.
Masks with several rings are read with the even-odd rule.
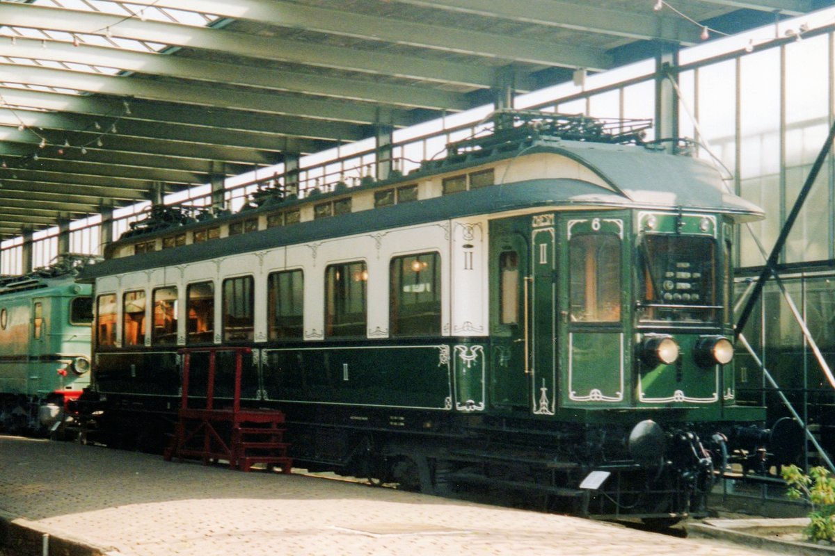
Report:
[[[3,6],[0,3],[0,6]],[[0,8],[2,11],[2,8]],[[43,87],[72,88],[89,93],[113,94],[159,100],[168,103],[185,103],[216,108],[235,108],[251,112],[299,116],[302,118],[326,118],[353,123],[375,123],[381,109],[371,103],[342,103],[311,100],[303,96],[277,93],[254,93],[251,89],[221,88],[192,83],[171,83],[139,75],[100,75],[69,69],[39,68],[0,63],[0,81],[25,83]],[[391,111],[394,125],[406,126],[412,118],[398,110]]]

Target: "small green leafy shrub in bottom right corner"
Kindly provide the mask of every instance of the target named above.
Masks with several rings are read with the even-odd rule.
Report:
[[[787,497],[801,498],[812,504],[806,536],[812,542],[835,541],[835,478],[826,468],[814,467],[809,474],[797,465],[782,468],[782,478],[788,484]]]

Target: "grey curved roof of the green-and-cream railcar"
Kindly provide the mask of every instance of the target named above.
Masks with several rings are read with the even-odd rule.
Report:
[[[560,153],[578,158],[595,167],[600,175],[610,182],[612,189],[569,178],[498,183],[485,188],[412,203],[348,213],[285,227],[268,228],[152,253],[112,258],[85,268],[80,279],[92,281],[95,278],[116,273],[194,263],[216,258],[222,253],[245,253],[450,218],[466,218],[478,214],[529,208],[560,206],[657,210],[681,206],[687,210],[729,213],[732,218],[740,221],[762,216],[762,211],[751,203],[721,193],[721,177],[716,170],[704,163],[691,158],[673,157],[661,153],[648,155],[643,149],[634,147],[624,147],[623,150],[611,148],[611,146],[606,146],[609,148],[605,149],[598,147],[574,145],[573,148],[568,149],[564,145],[537,146],[531,148],[531,151]],[[676,176],[676,173],[682,172],[689,173],[695,179]],[[613,179],[611,176],[617,178]],[[167,232],[170,233],[170,229]]]

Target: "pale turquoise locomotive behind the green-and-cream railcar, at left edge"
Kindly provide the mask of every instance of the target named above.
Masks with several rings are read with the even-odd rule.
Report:
[[[93,297],[71,264],[0,280],[0,428],[43,433],[89,385]]]

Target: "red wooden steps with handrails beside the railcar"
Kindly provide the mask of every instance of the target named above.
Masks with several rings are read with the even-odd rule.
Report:
[[[191,354],[209,353],[205,407],[189,405]],[[215,368],[217,353],[235,355],[235,389],[231,407],[215,408]],[[281,468],[290,473],[293,460],[287,455],[289,444],[283,440],[284,413],[277,409],[241,408],[240,375],[244,354],[251,348],[184,348],[183,396],[177,412],[178,421],[171,444],[164,452],[166,461],[177,458],[200,458],[203,464],[229,462],[231,469],[249,471],[255,463],[267,469]]]

